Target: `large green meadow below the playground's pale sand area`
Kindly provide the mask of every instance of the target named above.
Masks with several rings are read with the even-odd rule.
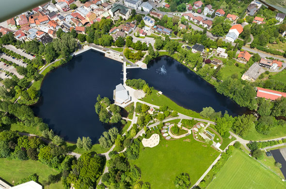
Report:
[[[189,174],[193,185],[220,154],[203,145],[206,144],[195,141],[192,135],[170,141],[161,137],[153,148],[141,144],[139,159],[130,163],[139,167],[141,181],[149,182],[152,189],[174,189],[175,177],[180,173]]]

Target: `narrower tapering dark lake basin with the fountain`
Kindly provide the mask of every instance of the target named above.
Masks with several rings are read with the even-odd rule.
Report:
[[[246,108],[217,93],[212,85],[186,66],[167,56],[152,60],[148,64],[148,70],[129,69],[127,72],[129,79],[141,78],[178,105],[196,112],[208,106],[216,112],[222,111],[222,114],[227,110],[228,114],[233,116],[247,111]]]

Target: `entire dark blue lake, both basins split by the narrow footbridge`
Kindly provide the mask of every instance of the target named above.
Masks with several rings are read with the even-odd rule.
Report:
[[[166,74],[160,74],[162,66]],[[246,111],[173,58],[156,58],[148,70],[127,72],[129,79],[142,78],[177,104],[197,112],[207,106],[222,113],[227,110],[233,116]],[[100,94],[112,100],[113,89],[122,82],[121,73],[122,63],[87,51],[46,76],[41,99],[32,106],[35,115],[66,141],[76,142],[78,137],[89,136],[97,143],[102,132],[111,126],[99,121],[94,107],[96,97]]]

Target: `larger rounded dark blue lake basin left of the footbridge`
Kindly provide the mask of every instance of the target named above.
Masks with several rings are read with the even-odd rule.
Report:
[[[95,113],[96,97],[112,100],[115,86],[122,83],[121,73],[122,63],[87,51],[46,76],[42,97],[32,107],[35,115],[67,141],[89,136],[95,143],[110,128]]]

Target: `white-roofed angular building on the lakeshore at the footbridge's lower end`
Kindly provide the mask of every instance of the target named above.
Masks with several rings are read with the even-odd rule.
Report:
[[[128,90],[122,85],[119,84],[116,86],[113,91],[113,100],[116,105],[124,106],[131,101],[131,97],[128,94]]]

